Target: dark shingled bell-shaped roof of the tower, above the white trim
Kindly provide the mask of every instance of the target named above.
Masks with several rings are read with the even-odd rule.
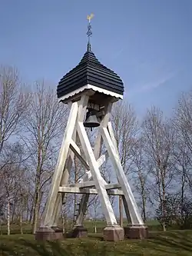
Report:
[[[84,85],[94,85],[119,95],[124,94],[124,84],[121,78],[98,61],[94,53],[91,52],[89,43],[88,50],[81,58],[81,62],[59,81],[57,88],[58,98]]]

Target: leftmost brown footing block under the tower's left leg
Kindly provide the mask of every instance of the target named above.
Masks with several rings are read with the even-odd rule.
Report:
[[[35,233],[35,240],[38,241],[62,240],[63,238],[64,236],[61,229],[38,228]]]

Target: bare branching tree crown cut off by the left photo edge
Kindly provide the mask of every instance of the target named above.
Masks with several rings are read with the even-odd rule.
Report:
[[[28,108],[28,94],[12,67],[0,68],[0,153],[5,141],[16,135]]]

